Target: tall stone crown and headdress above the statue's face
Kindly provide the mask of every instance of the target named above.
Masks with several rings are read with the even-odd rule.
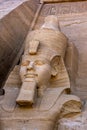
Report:
[[[57,62],[60,61],[62,67],[63,75],[57,78],[63,83],[69,83],[68,74],[64,65],[64,56],[68,44],[67,37],[60,31],[58,19],[55,15],[50,15],[45,18],[45,22],[40,29],[31,31],[25,41],[25,53],[24,59],[28,60],[31,57],[35,59],[45,58],[50,61],[50,63],[57,68]],[[26,57],[26,58],[25,58]],[[58,60],[60,59],[60,60]],[[59,64],[59,63],[58,63]],[[67,84],[68,85],[68,84]],[[58,83],[57,83],[58,86]]]

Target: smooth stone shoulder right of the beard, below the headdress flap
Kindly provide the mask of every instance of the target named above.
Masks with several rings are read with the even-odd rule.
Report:
[[[40,104],[40,110],[49,110],[54,107],[56,102],[60,100],[60,96],[63,93],[67,94],[69,89],[68,87],[47,88]]]

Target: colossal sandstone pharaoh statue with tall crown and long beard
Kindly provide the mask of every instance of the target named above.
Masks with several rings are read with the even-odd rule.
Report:
[[[54,130],[59,118],[81,112],[80,99],[70,94],[64,64],[68,39],[58,26],[56,16],[47,16],[40,29],[27,35],[20,65],[22,85],[18,96],[12,95],[14,103],[9,98],[9,113],[5,95],[0,108],[2,130]]]

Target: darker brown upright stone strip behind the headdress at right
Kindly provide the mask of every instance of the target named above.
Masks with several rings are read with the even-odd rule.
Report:
[[[78,72],[78,51],[73,43],[68,44],[65,63],[71,81],[71,91],[74,92]]]

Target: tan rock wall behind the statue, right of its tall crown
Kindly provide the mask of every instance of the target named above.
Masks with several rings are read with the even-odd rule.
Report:
[[[74,43],[74,46],[78,51],[78,69],[74,73],[75,79],[73,79],[72,82],[72,90],[74,94],[80,96],[81,99],[87,99],[86,5],[87,1],[44,4],[35,26],[35,29],[38,29],[43,24],[43,19],[47,15],[55,14],[58,16],[62,32],[67,35],[70,43]]]

